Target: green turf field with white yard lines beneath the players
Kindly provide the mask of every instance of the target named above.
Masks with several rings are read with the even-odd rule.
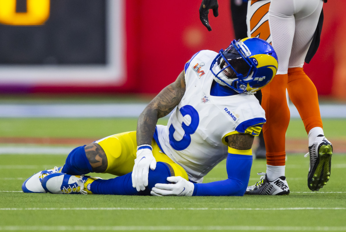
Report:
[[[165,120],[161,120],[164,123]],[[4,148],[73,148],[110,134],[136,129],[136,119],[29,118],[0,120],[0,151]],[[1,231],[346,231],[346,123],[324,120],[325,134],[337,151],[331,178],[319,192],[307,187],[309,158],[288,154],[288,196],[153,197],[109,195],[24,194],[30,175],[64,164],[66,155],[0,154]],[[291,120],[287,138],[307,143],[300,120]],[[67,139],[66,139],[67,138]],[[78,138],[78,139],[76,139]],[[11,143],[15,141],[15,143]],[[21,142],[22,141],[22,142]],[[24,144],[24,143],[35,144]],[[336,144],[339,146],[336,147]],[[300,146],[297,144],[297,146]],[[341,148],[340,148],[341,147]],[[20,153],[20,152],[18,152]],[[204,182],[227,177],[220,163]],[[254,160],[250,183],[265,171]],[[102,178],[112,176],[100,174]]]

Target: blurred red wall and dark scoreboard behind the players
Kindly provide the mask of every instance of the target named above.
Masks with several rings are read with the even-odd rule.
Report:
[[[219,17],[209,17],[210,32],[199,20],[199,4],[0,1],[0,93],[156,94],[195,52],[218,51],[234,38],[228,0],[219,0]],[[346,96],[345,5],[324,5],[320,48],[304,67],[328,99]]]

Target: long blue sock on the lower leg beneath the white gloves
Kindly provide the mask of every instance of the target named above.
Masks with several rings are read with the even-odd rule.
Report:
[[[93,194],[112,195],[151,195],[150,191],[157,183],[169,184],[167,177],[171,176],[169,167],[162,162],[157,162],[155,170],[149,169],[148,186],[144,191],[137,192],[132,187],[132,172],[109,180],[95,180],[90,185]]]

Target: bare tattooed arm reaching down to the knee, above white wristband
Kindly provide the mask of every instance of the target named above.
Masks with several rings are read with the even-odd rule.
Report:
[[[157,119],[168,115],[179,104],[184,93],[185,74],[182,71],[177,79],[161,90],[139,115],[137,145],[151,144]]]

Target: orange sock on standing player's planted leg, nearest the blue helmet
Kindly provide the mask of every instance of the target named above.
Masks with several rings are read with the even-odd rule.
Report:
[[[290,122],[290,110],[286,100],[288,75],[276,75],[262,89],[262,107],[267,122],[263,125],[267,164],[285,165],[285,137]]]

